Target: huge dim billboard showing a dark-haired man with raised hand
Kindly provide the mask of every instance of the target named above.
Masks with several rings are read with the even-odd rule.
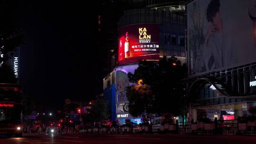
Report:
[[[256,0],[188,4],[189,75],[256,62]]]

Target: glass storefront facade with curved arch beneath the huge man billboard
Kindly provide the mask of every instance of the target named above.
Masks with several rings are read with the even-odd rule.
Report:
[[[211,120],[214,117],[237,119],[248,114],[249,107],[256,105],[256,63],[211,72],[188,80],[188,105],[191,106],[193,119],[201,111],[205,111]],[[221,114],[225,112],[227,114]]]

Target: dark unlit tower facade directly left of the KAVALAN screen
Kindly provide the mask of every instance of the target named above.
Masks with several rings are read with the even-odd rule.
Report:
[[[131,6],[131,0],[101,0],[98,14],[98,41],[96,66],[96,85],[98,93],[102,92],[102,79],[113,71],[116,63],[116,50],[118,40],[118,20],[123,11]]]

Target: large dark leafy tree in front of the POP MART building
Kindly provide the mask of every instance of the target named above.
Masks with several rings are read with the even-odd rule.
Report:
[[[185,78],[185,70],[185,64],[182,65],[174,56],[170,59],[164,57],[159,63],[139,62],[134,74],[128,73],[128,78],[134,83],[143,80],[146,87],[128,87],[129,112],[133,116],[139,116],[142,112],[159,115],[183,114],[185,86],[182,80]]]

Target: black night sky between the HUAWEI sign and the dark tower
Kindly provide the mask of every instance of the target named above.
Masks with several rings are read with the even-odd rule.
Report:
[[[19,2],[15,9],[25,34],[19,81],[38,108],[62,108],[64,99],[95,98],[98,17],[89,4],[68,0]],[[73,2],[73,3],[71,3]]]

